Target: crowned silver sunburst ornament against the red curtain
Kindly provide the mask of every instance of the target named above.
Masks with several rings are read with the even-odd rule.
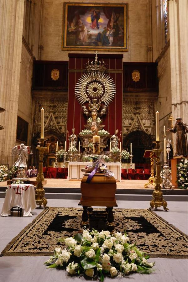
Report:
[[[89,111],[98,112],[103,115],[107,111],[107,106],[112,102],[116,94],[116,86],[113,79],[105,73],[106,64],[99,61],[97,51],[95,61],[86,64],[86,73],[76,82],[75,95],[83,108],[83,113],[88,115]]]

